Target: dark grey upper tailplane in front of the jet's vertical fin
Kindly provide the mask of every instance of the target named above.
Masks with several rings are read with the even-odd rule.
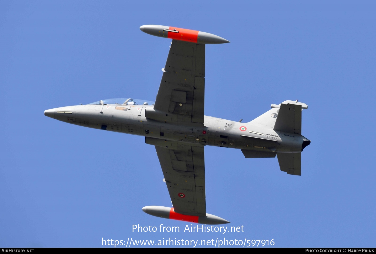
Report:
[[[274,131],[302,134],[302,105],[281,103]]]

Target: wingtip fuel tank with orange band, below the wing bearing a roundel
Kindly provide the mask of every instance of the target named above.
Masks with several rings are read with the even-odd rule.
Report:
[[[188,222],[196,222],[200,224],[226,224],[230,223],[226,219],[222,219],[218,216],[206,213],[206,216],[194,216],[194,215],[184,215],[181,213],[177,213],[174,211],[173,207],[165,207],[165,206],[145,206],[142,209],[147,214],[166,218],[166,219],[176,219],[178,221],[188,221]]]

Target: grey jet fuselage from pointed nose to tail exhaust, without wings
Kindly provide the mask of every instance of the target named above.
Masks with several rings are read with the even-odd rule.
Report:
[[[264,115],[274,120],[255,120],[248,123],[234,122],[217,117],[205,116],[205,123],[185,125],[174,122],[170,116],[165,121],[145,117],[146,108],[152,105],[76,105],[46,110],[44,114],[62,122],[84,127],[103,129],[161,141],[180,141],[190,144],[229,147],[260,152],[301,152],[305,139],[300,134],[274,131],[272,115],[278,108],[272,108]],[[260,117],[262,117],[260,116]]]

